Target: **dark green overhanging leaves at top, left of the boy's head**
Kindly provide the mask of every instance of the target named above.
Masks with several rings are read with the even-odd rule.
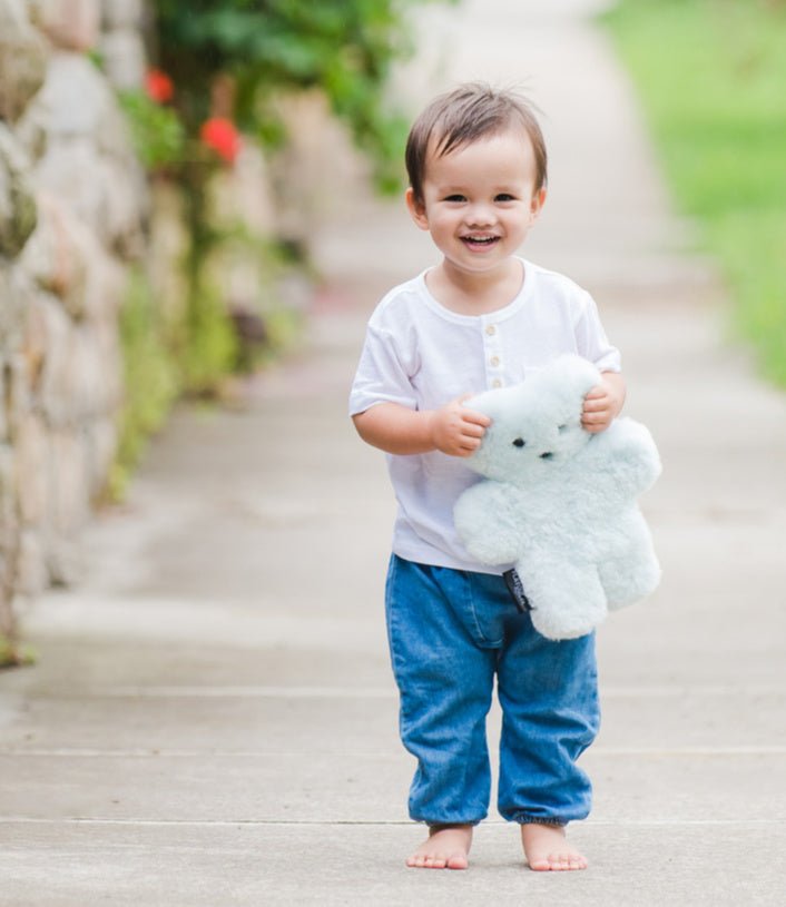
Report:
[[[158,63],[177,86],[194,132],[215,103],[216,77],[234,86],[242,131],[281,140],[282,92],[320,88],[381,186],[396,185],[403,118],[385,97],[392,63],[411,51],[407,6],[414,0],[156,0]]]

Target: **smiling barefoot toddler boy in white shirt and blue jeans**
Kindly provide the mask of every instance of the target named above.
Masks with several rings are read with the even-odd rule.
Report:
[[[361,437],[387,453],[399,503],[387,631],[402,741],[417,759],[410,815],[429,826],[407,865],[468,866],[489,805],[495,678],[499,811],[521,826],[530,868],[583,869],[564,827],[590,809],[576,761],[599,724],[595,635],[541,637],[508,592],[511,565],[490,572],[462,546],[453,504],[478,481],[462,459],[490,424],[468,396],[574,353],[602,373],[582,416],[601,432],[625,400],[619,353],[587,292],[515,254],[547,187],[543,136],[525,100],[475,83],[436,98],[412,127],[406,167],[407,208],[442,260],[374,310],[350,411]]]

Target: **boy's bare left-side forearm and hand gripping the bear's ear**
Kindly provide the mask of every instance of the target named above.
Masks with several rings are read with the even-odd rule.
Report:
[[[397,403],[380,403],[353,416],[357,433],[369,444],[392,454],[442,451],[469,456],[478,450],[491,420],[470,410],[459,397],[440,410],[409,410]]]

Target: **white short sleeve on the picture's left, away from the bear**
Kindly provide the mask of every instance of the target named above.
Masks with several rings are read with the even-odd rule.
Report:
[[[410,375],[413,365],[404,362],[396,338],[370,325],[350,393],[350,415],[358,415],[380,403],[397,403],[417,408]]]

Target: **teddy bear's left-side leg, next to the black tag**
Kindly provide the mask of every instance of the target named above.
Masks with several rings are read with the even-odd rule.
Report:
[[[606,617],[606,593],[593,564],[532,558],[517,570],[532,624],[547,639],[576,639]]]

